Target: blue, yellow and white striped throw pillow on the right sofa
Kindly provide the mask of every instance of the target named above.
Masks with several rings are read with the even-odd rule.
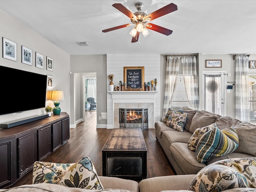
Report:
[[[232,127],[220,130],[218,127],[206,132],[196,146],[196,158],[204,163],[211,158],[232,153],[238,147],[238,135]]]

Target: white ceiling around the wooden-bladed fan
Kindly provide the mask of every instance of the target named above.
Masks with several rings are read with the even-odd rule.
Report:
[[[176,4],[178,10],[151,21],[172,34],[149,30],[131,43],[132,26],[102,32],[131,23],[112,4],[134,13],[137,2],[147,14]],[[0,9],[71,55],[256,54],[256,0],[0,0]]]

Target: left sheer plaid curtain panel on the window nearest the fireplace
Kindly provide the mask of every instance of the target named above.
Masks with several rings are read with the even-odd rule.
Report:
[[[166,62],[166,80],[164,90],[164,107],[162,111],[162,119],[164,119],[176,89],[176,83],[179,74],[179,66],[181,62],[181,56],[167,56]]]

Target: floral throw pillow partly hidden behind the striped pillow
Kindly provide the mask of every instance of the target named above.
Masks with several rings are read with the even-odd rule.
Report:
[[[197,128],[193,135],[188,140],[188,148],[191,151],[196,151],[196,146],[199,142],[199,139],[208,131],[212,130],[212,128],[217,127],[216,123],[210,124],[208,126]]]

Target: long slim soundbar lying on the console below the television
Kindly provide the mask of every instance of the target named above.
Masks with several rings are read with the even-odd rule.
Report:
[[[40,120],[40,119],[43,119],[46,117],[49,117],[49,115],[48,114],[35,115],[35,116],[16,119],[16,120],[8,121],[8,122],[3,122],[0,124],[0,128],[8,129],[8,128],[11,128],[14,126],[22,125],[22,124],[29,123],[29,122],[36,121],[36,120]]]

